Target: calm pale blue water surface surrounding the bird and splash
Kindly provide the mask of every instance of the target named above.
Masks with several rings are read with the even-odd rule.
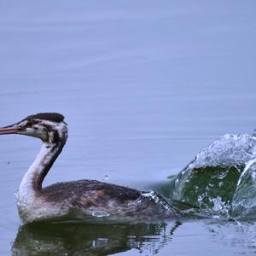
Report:
[[[91,178],[150,189],[224,133],[256,128],[255,8],[0,1],[0,125],[66,116],[67,146],[45,184]],[[256,224],[246,222],[22,227],[14,194],[39,148],[30,137],[0,138],[1,255],[256,253]]]

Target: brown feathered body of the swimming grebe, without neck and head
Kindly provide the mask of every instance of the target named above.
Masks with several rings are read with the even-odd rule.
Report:
[[[32,203],[27,204],[19,200],[18,208],[20,218],[25,223],[116,223],[175,216],[168,203],[154,192],[141,192],[94,180],[55,183],[42,189]]]

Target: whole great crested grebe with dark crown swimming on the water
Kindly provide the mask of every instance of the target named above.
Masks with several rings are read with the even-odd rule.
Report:
[[[123,222],[176,218],[176,208],[155,192],[143,192],[96,180],[55,183],[42,188],[44,177],[67,141],[67,123],[60,113],[37,113],[14,125],[0,128],[0,135],[38,137],[43,146],[23,177],[17,205],[23,223],[38,221]]]

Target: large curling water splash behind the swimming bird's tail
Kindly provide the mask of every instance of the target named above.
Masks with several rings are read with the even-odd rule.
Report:
[[[225,217],[253,215],[256,209],[255,132],[253,136],[224,135],[202,150],[172,178],[169,196]]]

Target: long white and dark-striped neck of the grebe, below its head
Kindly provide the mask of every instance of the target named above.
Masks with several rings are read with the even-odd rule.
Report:
[[[56,158],[61,154],[66,141],[58,143],[43,143],[43,146],[22,178],[19,189],[19,197],[23,201],[30,201],[42,192],[42,183],[49,169],[54,164]],[[31,198],[32,197],[32,198]]]

